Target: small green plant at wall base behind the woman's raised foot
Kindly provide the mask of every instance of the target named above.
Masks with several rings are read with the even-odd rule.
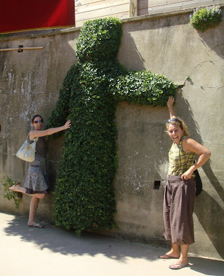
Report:
[[[0,178],[0,184],[3,186],[3,197],[7,198],[8,200],[13,199],[15,203],[15,208],[19,209],[19,204],[21,202],[21,197],[18,197],[17,192],[13,190],[8,190],[8,187],[15,185],[15,181],[11,179],[11,176],[6,176],[3,174]]]

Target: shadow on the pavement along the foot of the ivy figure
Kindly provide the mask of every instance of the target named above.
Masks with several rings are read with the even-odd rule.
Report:
[[[91,256],[102,254],[121,262],[125,262],[129,257],[151,261],[158,259],[158,248],[155,247],[155,253],[153,253],[151,246],[147,244],[138,244],[94,233],[83,233],[77,237],[72,230],[64,230],[50,224],[45,224],[46,227],[41,229],[28,227],[27,218],[23,216],[12,216],[7,223],[8,226],[3,229],[6,235],[20,236],[22,241],[32,242],[41,250],[47,248],[53,253]]]

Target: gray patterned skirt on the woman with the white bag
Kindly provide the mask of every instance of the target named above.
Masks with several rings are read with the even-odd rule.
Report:
[[[48,193],[48,175],[46,173],[46,157],[35,157],[30,163],[25,185],[27,194]]]

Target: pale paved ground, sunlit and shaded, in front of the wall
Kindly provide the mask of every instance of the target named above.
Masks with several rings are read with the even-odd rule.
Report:
[[[27,226],[27,218],[0,213],[0,276],[192,276],[224,275],[224,262],[189,257],[190,266],[170,270],[158,258],[164,248],[84,234],[76,237],[46,224]]]

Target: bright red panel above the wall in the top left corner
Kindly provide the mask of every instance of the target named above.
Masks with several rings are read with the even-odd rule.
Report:
[[[0,33],[75,26],[75,0],[1,1]]]

